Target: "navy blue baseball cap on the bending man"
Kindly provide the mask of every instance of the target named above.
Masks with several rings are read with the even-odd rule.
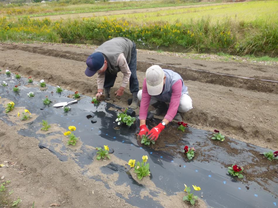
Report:
[[[87,69],[85,70],[86,76],[93,76],[104,64],[104,57],[102,53],[96,52],[89,55],[86,60]]]

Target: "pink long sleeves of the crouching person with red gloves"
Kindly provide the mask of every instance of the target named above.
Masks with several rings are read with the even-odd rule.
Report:
[[[176,113],[179,108],[180,99],[181,99],[181,90],[182,90],[182,81],[178,80],[176,83],[172,85],[172,95],[171,95],[171,101],[169,104],[169,109],[167,111],[167,114],[165,115],[165,119],[171,121],[176,116]],[[139,111],[139,119],[140,120],[146,120],[148,108],[150,105],[151,95],[149,95],[147,90],[147,82],[146,78],[143,82],[143,89],[142,89],[142,98],[140,103],[140,111]]]

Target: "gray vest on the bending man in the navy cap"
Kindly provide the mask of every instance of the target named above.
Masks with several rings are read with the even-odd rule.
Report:
[[[94,52],[102,53],[107,61],[108,71],[111,74],[117,74],[120,71],[119,66],[116,65],[119,55],[123,53],[127,64],[129,64],[132,48],[133,42],[131,40],[127,38],[113,38],[104,42]]]

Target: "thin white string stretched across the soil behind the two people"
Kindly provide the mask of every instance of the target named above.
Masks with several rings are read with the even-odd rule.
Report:
[[[32,45],[28,45],[28,44],[24,44],[24,45],[32,46]],[[46,49],[50,49],[50,50],[59,50],[59,51],[69,51],[69,52],[73,52],[73,53],[83,53],[83,52],[78,52],[78,51],[60,50],[60,49],[47,48],[47,47],[42,47],[42,46],[32,46],[32,47],[46,48]],[[91,55],[91,53],[83,53],[83,54]],[[268,79],[255,79],[255,78],[250,78],[250,77],[236,76],[236,75],[230,75],[230,74],[222,74],[222,73],[206,71],[206,70],[200,70],[200,69],[192,69],[192,68],[189,68],[189,67],[174,66],[174,65],[170,65],[170,64],[162,64],[162,63],[155,63],[155,62],[141,61],[141,60],[137,60],[137,61],[138,62],[147,62],[147,63],[151,63],[151,64],[159,64],[159,65],[170,66],[170,67],[183,68],[183,69],[191,69],[191,70],[194,70],[194,71],[202,71],[202,72],[207,72],[207,73],[211,73],[211,74],[219,74],[219,75],[224,75],[224,76],[232,76],[232,77],[243,78],[243,79],[260,80],[260,81],[268,81],[268,82],[276,82],[276,83],[278,83],[278,81],[268,80]]]

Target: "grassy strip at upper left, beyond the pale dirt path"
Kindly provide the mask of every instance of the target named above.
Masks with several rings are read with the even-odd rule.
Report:
[[[85,12],[99,12],[99,11],[113,11],[124,9],[138,9],[138,8],[157,8],[167,6],[182,6],[204,4],[197,0],[153,0],[153,1],[87,1],[90,4],[84,4],[86,1],[63,1],[46,2],[46,3],[32,3],[27,5],[4,5],[0,4],[0,15],[21,17],[22,15],[29,15],[30,17],[58,15],[58,14],[73,14]],[[215,2],[221,2],[215,1]],[[73,4],[70,4],[73,3]],[[207,4],[207,3],[206,3]]]

